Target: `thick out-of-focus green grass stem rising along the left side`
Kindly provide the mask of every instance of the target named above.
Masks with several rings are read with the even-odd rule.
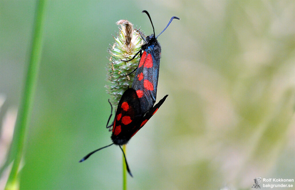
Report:
[[[19,188],[19,165],[23,156],[26,129],[31,118],[32,105],[34,102],[35,89],[37,85],[37,76],[41,59],[44,11],[45,0],[37,1],[34,29],[32,35],[32,44],[30,50],[30,60],[28,63],[22,99],[19,107],[19,112],[17,115],[17,123],[14,129],[12,148],[9,153],[9,157],[12,158],[14,161],[5,189]]]

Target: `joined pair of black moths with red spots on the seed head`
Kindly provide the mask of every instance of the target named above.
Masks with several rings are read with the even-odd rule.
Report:
[[[134,136],[135,133],[137,133],[137,131],[140,130],[145,125],[145,123],[147,123],[147,121],[156,113],[158,108],[160,108],[168,96],[165,95],[164,98],[154,105],[157,94],[161,53],[161,47],[157,41],[157,37],[160,36],[160,34],[162,34],[165,29],[167,29],[173,19],[179,19],[178,17],[173,16],[165,29],[158,36],[156,36],[153,22],[150,18],[150,15],[148,14],[148,11],[144,10],[142,12],[148,15],[153,27],[153,34],[144,38],[140,33],[146,44],[142,45],[141,50],[137,52],[132,58],[134,59],[136,55],[140,53],[141,58],[132,83],[132,87],[123,93],[117,107],[114,123],[108,126],[109,120],[112,117],[113,108],[111,105],[111,115],[109,116],[106,126],[107,128],[113,126],[111,136],[113,143],[92,151],[79,161],[82,162],[86,160],[93,153],[103,148],[109,147],[113,144],[119,145],[123,152],[126,168],[130,176],[132,176],[132,174],[130,172],[126,156],[123,149],[121,148],[121,145],[128,143],[130,138]],[[126,62],[128,61],[130,60],[127,60]]]

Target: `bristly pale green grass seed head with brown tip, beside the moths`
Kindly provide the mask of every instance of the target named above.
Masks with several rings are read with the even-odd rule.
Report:
[[[140,33],[133,28],[132,23],[127,20],[119,20],[117,24],[121,28],[119,28],[117,37],[114,37],[113,46],[108,48],[111,57],[107,67],[107,76],[111,84],[106,85],[106,91],[111,95],[110,102],[114,107],[117,107],[122,94],[127,90],[128,86],[131,87],[135,72],[130,73],[137,67],[140,55],[138,54],[135,59],[129,62],[121,60],[132,59],[144,42]]]

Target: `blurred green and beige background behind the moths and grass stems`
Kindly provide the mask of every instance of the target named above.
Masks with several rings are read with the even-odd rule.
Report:
[[[3,134],[22,93],[36,1],[0,3]],[[127,145],[128,187],[251,189],[255,177],[295,178],[294,1],[49,1],[46,8],[21,189],[122,188],[118,147],[78,161],[111,143],[107,47],[120,19],[152,33],[142,10],[156,34],[171,16],[181,20],[158,38],[157,97],[169,96]]]

